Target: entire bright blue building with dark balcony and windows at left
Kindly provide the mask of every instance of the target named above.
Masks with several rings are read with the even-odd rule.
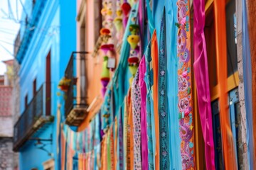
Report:
[[[14,125],[14,151],[21,170],[59,169],[58,82],[76,49],[76,2],[26,0],[15,57],[21,66],[21,116]]]

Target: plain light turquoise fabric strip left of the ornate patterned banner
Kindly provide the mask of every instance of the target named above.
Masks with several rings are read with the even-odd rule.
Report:
[[[177,27],[176,17],[178,9],[176,0],[166,3],[166,44],[167,44],[167,101],[169,114],[169,144],[170,144],[170,169],[182,169],[178,125],[178,57],[177,56]]]

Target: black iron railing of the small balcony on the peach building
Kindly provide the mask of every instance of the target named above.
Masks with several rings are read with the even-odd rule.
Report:
[[[87,106],[86,103],[86,77],[85,77],[85,55],[87,52],[72,52],[70,61],[65,69],[65,78],[71,79],[68,91],[65,92],[65,117],[73,108],[83,108]],[[80,62],[78,62],[80,60]],[[80,67],[80,75],[77,74],[77,66]],[[80,83],[80,94],[78,98],[78,86]]]

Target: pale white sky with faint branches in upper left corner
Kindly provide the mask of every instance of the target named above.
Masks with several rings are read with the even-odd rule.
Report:
[[[14,59],[14,40],[20,28],[23,0],[0,0],[0,75],[6,72],[4,60]]]

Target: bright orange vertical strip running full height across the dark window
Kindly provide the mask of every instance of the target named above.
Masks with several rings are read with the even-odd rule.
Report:
[[[238,169],[235,158],[235,146],[230,128],[230,116],[228,111],[227,89],[227,40],[225,28],[225,1],[214,1],[215,15],[215,40],[217,57],[218,93],[220,94],[220,127],[223,137],[223,153],[225,169]]]

